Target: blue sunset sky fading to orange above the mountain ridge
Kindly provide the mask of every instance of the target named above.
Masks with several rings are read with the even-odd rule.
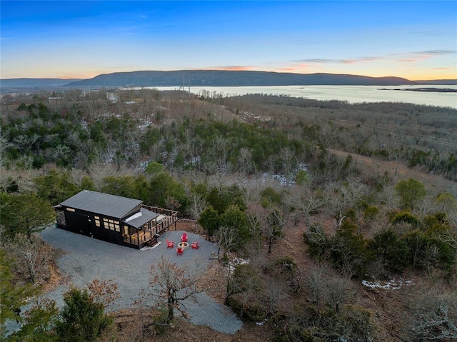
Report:
[[[457,1],[0,1],[0,78],[255,70],[457,79]]]

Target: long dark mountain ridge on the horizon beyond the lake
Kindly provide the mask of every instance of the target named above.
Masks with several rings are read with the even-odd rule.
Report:
[[[369,77],[350,74],[293,74],[269,71],[131,71],[101,74],[92,79],[1,79],[1,89],[114,88],[124,86],[400,86],[456,85],[456,79],[411,81],[401,77]]]

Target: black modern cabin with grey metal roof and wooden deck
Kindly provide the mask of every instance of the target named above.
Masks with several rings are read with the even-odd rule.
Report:
[[[178,213],[144,206],[143,201],[83,190],[56,209],[57,228],[141,249],[178,221]]]

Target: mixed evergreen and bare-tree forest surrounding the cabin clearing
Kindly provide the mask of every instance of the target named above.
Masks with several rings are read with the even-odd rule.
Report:
[[[209,91],[3,95],[1,336],[179,336],[173,295],[124,330],[120,313],[105,312],[116,283],[73,288],[61,309],[40,300],[59,251],[39,233],[54,223],[53,206],[88,189],[179,211],[219,245],[217,268],[248,260],[218,283],[244,322],[240,340],[454,341],[456,117],[445,107]],[[403,285],[376,285],[392,279]],[[26,300],[34,306],[19,315]],[[21,329],[7,333],[11,319]],[[223,335],[218,341],[233,341]]]

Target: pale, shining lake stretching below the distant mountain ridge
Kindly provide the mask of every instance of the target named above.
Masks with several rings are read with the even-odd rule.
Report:
[[[441,88],[455,89],[457,86],[192,86],[191,93],[210,91],[223,96],[245,94],[272,94],[303,97],[314,100],[339,100],[356,104],[362,102],[405,102],[427,106],[451,107],[457,109],[457,93],[429,91],[406,91],[404,89]],[[182,89],[179,87],[156,87],[159,90]],[[395,90],[402,89],[402,90]],[[189,89],[185,87],[185,91]]]

